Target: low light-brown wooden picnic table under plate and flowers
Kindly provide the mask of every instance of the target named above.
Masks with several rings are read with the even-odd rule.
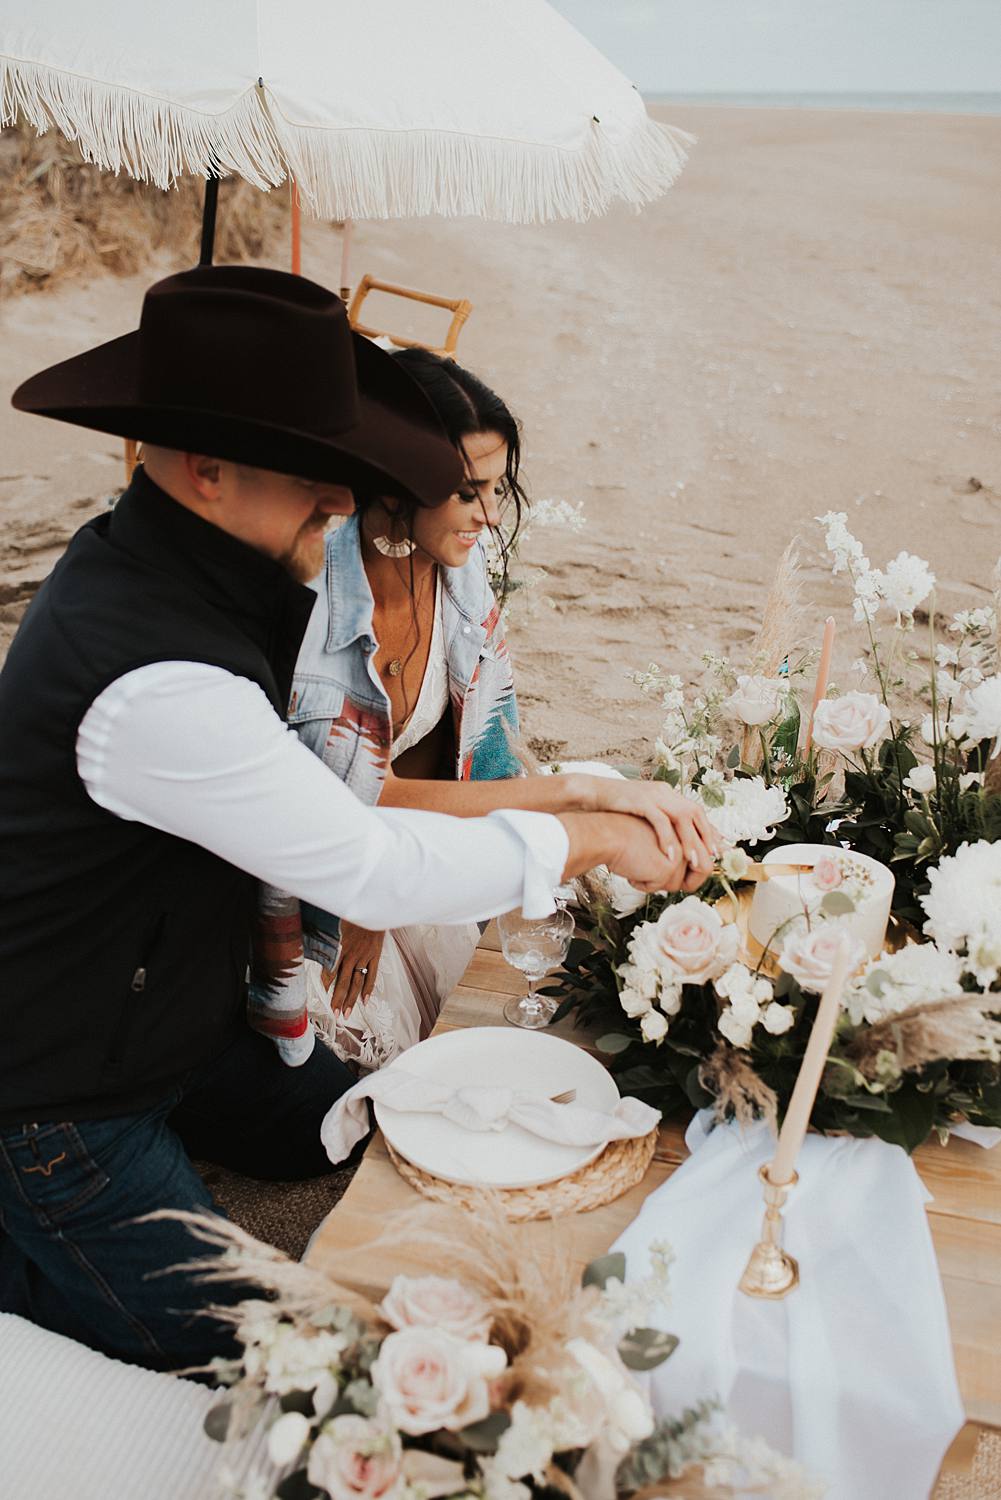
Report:
[[[444,1005],[435,1032],[503,1026],[503,1002],[522,990],[521,975],[504,963],[492,930],[488,930],[462,982]],[[561,1022],[554,1034],[585,1044],[584,1034],[575,1032],[569,1022]],[[590,1214],[519,1226],[525,1248],[570,1258],[582,1269],[608,1250],[636,1216],[647,1194],[684,1161],[683,1136],[680,1125],[665,1125],[647,1176],[615,1203]],[[935,1143],[923,1146],[915,1154],[915,1164],[933,1196],[929,1204],[932,1239],[969,1418],[950,1450],[953,1461],[947,1467],[956,1468],[965,1467],[978,1425],[1001,1426],[1001,1146],[983,1150],[953,1138],[947,1148]],[[351,1186],[317,1233],[311,1260],[366,1296],[381,1296],[401,1270],[440,1270],[422,1254],[419,1244],[372,1244],[383,1232],[387,1215],[422,1202],[426,1203],[399,1176],[377,1134]],[[453,1218],[455,1233],[462,1234],[464,1220],[458,1210],[435,1206],[434,1212],[441,1216],[443,1227]],[[920,1317],[917,1308],[915,1317]]]

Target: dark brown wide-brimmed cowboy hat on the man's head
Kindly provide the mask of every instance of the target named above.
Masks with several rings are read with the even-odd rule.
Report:
[[[462,480],[423,390],[303,276],[201,266],[150,286],[135,333],[24,381],[18,411],[188,453],[396,494]]]

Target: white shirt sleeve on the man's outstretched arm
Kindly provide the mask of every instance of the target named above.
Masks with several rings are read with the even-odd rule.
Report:
[[[359,927],[467,922],[554,908],[569,838],[548,813],[449,818],[366,807],[248,678],[158,662],[117,678],[77,735],[110,813],[210,849]]]

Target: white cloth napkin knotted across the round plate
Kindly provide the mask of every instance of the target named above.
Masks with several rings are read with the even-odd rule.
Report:
[[[344,1161],[368,1131],[366,1100],[414,1114],[444,1114],[462,1130],[500,1131],[506,1125],[563,1146],[606,1146],[609,1140],[647,1136],[660,1112],[639,1100],[620,1100],[615,1110],[591,1110],[582,1104],[554,1104],[537,1094],[503,1088],[452,1089],[393,1065],[362,1078],[327,1110],[320,1138],[330,1161]]]

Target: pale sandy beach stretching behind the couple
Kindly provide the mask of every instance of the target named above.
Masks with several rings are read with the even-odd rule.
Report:
[[[584,501],[582,531],[530,540],[548,578],[510,627],[527,735],[555,756],[644,756],[657,711],[627,670],[738,658],[792,536],[819,639],[846,597],[825,510],[873,564],[927,558],[945,610],[987,600],[1001,550],[1001,118],[656,112],[699,140],[642,214],[356,230],[356,279],[473,302],[459,358],[521,416],[533,494]],[[338,232],[308,226],[306,274],[336,285],[338,262]],[[135,327],[155,274],[0,304],[0,650],[122,483],[114,438],[9,393]],[[842,638],[842,669],[854,656]]]

